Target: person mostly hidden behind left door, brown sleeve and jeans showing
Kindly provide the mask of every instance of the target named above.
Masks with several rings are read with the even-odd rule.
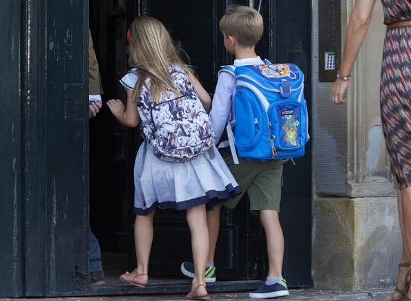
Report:
[[[88,30],[88,118],[93,118],[102,108],[102,80],[99,73],[99,65],[93,47],[93,39],[91,38],[90,30]],[[102,266],[102,253],[99,246],[99,241],[95,238],[90,230],[90,248],[89,248],[89,272],[90,285],[105,284],[105,275]]]

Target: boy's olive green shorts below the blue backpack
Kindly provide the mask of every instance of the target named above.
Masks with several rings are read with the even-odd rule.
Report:
[[[224,203],[229,209],[236,208],[238,202],[248,193],[250,210],[258,215],[260,210],[280,211],[283,163],[281,160],[246,161],[239,158],[240,164],[233,163],[231,154],[222,154],[242,193]]]

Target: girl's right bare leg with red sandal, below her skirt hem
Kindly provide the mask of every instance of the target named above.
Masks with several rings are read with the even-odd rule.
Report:
[[[196,289],[195,295],[206,295],[205,266],[209,253],[209,230],[207,229],[207,214],[204,205],[187,209],[187,223],[191,232],[191,248],[193,250],[194,278],[191,289]],[[203,284],[204,286],[199,286]]]

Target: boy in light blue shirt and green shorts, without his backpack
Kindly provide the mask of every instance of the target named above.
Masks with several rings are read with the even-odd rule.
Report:
[[[256,55],[255,46],[260,40],[263,31],[261,15],[247,6],[235,6],[227,9],[220,21],[220,30],[224,35],[224,47],[229,53],[236,56],[234,66],[259,65],[264,62]],[[233,115],[233,96],[236,93],[236,78],[227,72],[221,72],[218,77],[216,92],[213,96],[210,120],[216,141],[220,141],[218,148],[222,152],[224,161],[229,166],[234,178],[240,184],[242,194],[224,204],[227,208],[235,208],[245,192],[249,195],[251,212],[260,216],[265,230],[269,261],[268,277],[259,289],[249,294],[250,298],[276,298],[289,295],[287,284],[282,277],[284,237],[278,219],[281,198],[281,176],[283,162],[245,161],[233,164],[231,152],[227,147],[227,135],[222,136],[227,120]],[[209,255],[207,258],[206,282],[216,281],[214,267],[214,252],[220,227],[220,209],[215,207],[207,212],[209,228]],[[193,264],[184,262],[181,271],[192,277]]]

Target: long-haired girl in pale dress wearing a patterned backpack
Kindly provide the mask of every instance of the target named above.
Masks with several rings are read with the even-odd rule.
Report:
[[[156,208],[186,210],[196,271],[189,299],[208,299],[204,272],[209,250],[206,208],[240,193],[214,145],[207,112],[211,98],[164,25],[139,17],[130,28],[129,64],[120,81],[127,104],[109,100],[123,125],[141,122],[145,141],[135,159],[135,253],[137,268],[120,280],[135,286],[149,281],[149,256]]]

